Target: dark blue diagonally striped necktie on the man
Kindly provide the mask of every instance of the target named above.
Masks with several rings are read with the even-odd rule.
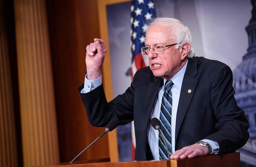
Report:
[[[163,99],[161,104],[161,111],[160,111],[160,123],[161,123],[161,131],[163,132],[163,137],[165,138],[166,145],[169,149],[169,154],[172,155],[172,134],[171,134],[171,121],[172,121],[172,88],[173,82],[171,80],[166,81],[165,83],[165,90],[163,93]],[[164,145],[163,139],[159,134],[159,158],[162,159],[169,159],[167,154],[167,149]]]

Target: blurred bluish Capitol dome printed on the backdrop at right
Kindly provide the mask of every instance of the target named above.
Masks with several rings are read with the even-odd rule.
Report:
[[[245,30],[249,46],[242,62],[233,70],[233,87],[238,106],[249,121],[249,140],[240,152],[241,166],[256,164],[256,0],[251,0],[251,20]]]

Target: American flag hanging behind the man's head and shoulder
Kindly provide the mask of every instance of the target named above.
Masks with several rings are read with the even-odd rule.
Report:
[[[148,20],[155,18],[156,12],[152,0],[132,0],[131,2],[131,78],[140,68],[149,65],[147,55],[142,55],[140,48],[145,45],[145,34],[143,31],[143,24]],[[131,124],[131,137],[132,137],[132,155],[134,160],[135,156],[135,133],[134,123]]]

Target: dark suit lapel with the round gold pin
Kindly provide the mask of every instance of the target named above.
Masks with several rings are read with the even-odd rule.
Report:
[[[175,127],[175,141],[177,141],[177,136],[181,127],[181,124],[184,120],[188,106],[193,97],[195,87],[197,85],[198,79],[195,79],[197,74],[197,59],[191,58],[188,59],[188,66],[184,74],[184,78],[181,85],[181,94],[179,97],[179,104],[177,109],[176,116],[176,127]]]

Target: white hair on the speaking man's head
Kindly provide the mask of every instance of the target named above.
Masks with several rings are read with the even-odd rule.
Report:
[[[189,43],[191,48],[188,51],[187,57],[192,58],[195,56],[195,51],[192,47],[192,35],[187,26],[185,26],[181,21],[174,18],[153,18],[149,22],[146,22],[143,26],[143,33],[147,33],[148,29],[152,25],[165,26],[172,30],[172,36],[170,38],[176,43],[176,48],[182,46],[184,43]]]

